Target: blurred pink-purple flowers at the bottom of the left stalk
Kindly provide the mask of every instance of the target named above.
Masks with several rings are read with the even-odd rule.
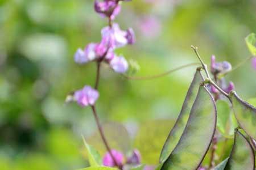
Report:
[[[141,154],[136,149],[133,150],[132,154],[127,156],[127,158],[125,158],[122,152],[117,150],[111,150],[111,153],[119,167],[136,166],[141,163]],[[109,152],[104,155],[102,163],[107,167],[115,167],[114,160],[112,159],[112,156]]]

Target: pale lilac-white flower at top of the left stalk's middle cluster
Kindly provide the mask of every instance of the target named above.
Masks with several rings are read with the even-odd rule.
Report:
[[[122,31],[117,23],[114,23],[112,27],[103,28],[101,36],[109,44],[109,48],[112,49],[125,46],[128,43],[127,32]]]

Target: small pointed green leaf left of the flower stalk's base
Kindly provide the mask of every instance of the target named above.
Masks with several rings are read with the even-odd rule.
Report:
[[[82,137],[82,140],[84,141],[84,145],[86,148],[86,152],[88,155],[88,159],[89,159],[89,163],[91,167],[98,167],[99,165],[101,165],[101,156],[100,154],[98,154],[98,152],[92,147],[89,146],[84,137]]]

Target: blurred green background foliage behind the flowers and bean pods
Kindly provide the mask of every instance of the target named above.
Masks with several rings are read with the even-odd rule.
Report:
[[[244,38],[256,31],[256,1],[134,0],[115,22],[135,30],[136,44],[117,53],[139,63],[138,76],[198,62],[191,45],[207,63],[215,54],[235,66],[250,57]],[[0,169],[86,167],[81,134],[104,154],[90,108],[64,101],[94,84],[96,66],[76,65],[73,54],[100,41],[106,24],[92,0],[0,0]],[[104,125],[112,147],[139,148],[143,163],[156,164],[195,67],[135,81],[104,66],[97,108],[102,122],[112,122]],[[227,79],[249,99],[255,76],[247,62]]]

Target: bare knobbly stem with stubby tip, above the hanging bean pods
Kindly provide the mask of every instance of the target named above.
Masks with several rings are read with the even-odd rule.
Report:
[[[222,90],[220,87],[218,87],[218,85],[216,83],[213,82],[212,78],[210,78],[210,74],[207,70],[207,65],[203,62],[203,60],[201,59],[199,52],[198,52],[198,48],[191,45],[191,48],[194,50],[194,52],[196,53],[197,58],[199,58],[201,65],[205,71],[205,74],[207,75],[207,79],[205,79],[205,83],[210,83],[212,84],[212,86],[214,86],[215,88],[217,88],[218,91],[221,92],[221,94],[223,94],[224,96],[228,97],[228,99],[230,100],[229,94],[227,94],[224,90]]]

